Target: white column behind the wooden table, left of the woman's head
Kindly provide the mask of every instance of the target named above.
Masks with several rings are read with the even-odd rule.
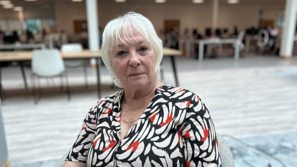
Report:
[[[98,9],[97,0],[86,0],[87,24],[89,49],[91,51],[99,50],[99,26],[98,26]],[[91,59],[91,64],[96,64],[95,59]]]

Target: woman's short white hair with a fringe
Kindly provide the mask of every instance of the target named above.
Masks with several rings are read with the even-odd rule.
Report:
[[[153,24],[146,17],[136,12],[128,12],[109,21],[103,31],[101,54],[102,60],[111,73],[114,83],[120,88],[123,86],[111,67],[109,53],[114,48],[114,43],[116,43],[115,46],[117,46],[119,42],[126,44],[125,40],[132,42],[128,37],[133,37],[133,30],[142,34],[153,48],[155,52],[156,73],[159,73],[160,63],[163,57],[162,40],[158,37]]]

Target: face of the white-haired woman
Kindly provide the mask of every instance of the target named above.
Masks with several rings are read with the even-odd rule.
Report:
[[[138,89],[155,84],[155,53],[148,41],[137,31],[125,43],[119,42],[110,51],[111,67],[124,88]],[[128,42],[132,41],[132,42]]]

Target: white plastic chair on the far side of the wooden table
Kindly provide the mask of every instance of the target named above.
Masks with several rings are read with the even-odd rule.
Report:
[[[82,51],[83,47],[80,43],[67,43],[63,44],[61,47],[62,52],[76,52]],[[88,80],[87,80],[87,64],[84,59],[75,59],[75,60],[65,60],[65,66],[70,68],[75,67],[84,67],[84,80],[85,86],[88,87]]]

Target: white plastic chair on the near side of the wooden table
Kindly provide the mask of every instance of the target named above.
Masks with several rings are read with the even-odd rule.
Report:
[[[66,92],[68,100],[70,100],[70,90],[67,73],[65,71],[65,65],[63,59],[57,49],[49,50],[34,50],[32,57],[32,82],[33,82],[33,100],[36,104],[41,96],[40,81],[39,85],[39,97],[35,94],[35,76],[39,78],[50,78],[50,77],[65,77]],[[36,97],[36,98],[35,98]]]

